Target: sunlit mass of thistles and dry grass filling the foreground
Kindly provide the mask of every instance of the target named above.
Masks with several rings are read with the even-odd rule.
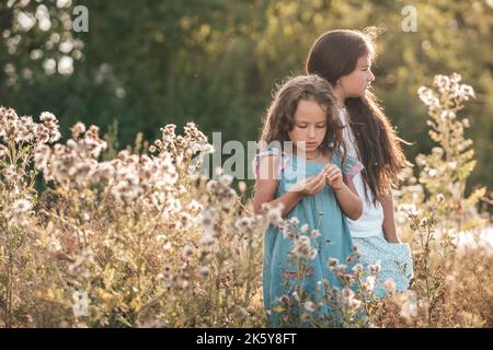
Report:
[[[475,208],[485,189],[466,196],[475,161],[463,136],[469,121],[458,117],[474,93],[452,74],[420,96],[437,147],[397,191],[414,278],[404,293],[385,281],[380,299],[382,267],[364,267],[357,248],[346,261],[326,261],[340,288],[322,280],[305,290],[321,233],[278,208],[253,214],[227,174],[198,175],[214,149],[193,122],[183,135],[168,125],[149,147],[118,151],[98,126],[78,122],[61,142],[53,114],[35,122],[1,107],[0,326],[271,326],[262,242],[275,224],[294,243],[294,276],[275,306],[287,326],[491,327],[493,247],[458,240],[485,223]],[[329,316],[318,316],[322,308]]]

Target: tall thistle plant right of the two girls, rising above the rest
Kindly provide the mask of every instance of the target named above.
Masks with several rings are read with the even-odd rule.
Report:
[[[427,327],[440,325],[447,310],[448,277],[463,258],[457,256],[460,235],[486,223],[477,211],[485,188],[475,188],[466,197],[467,179],[475,160],[472,140],[465,137],[469,119],[460,118],[458,113],[474,97],[474,92],[460,81],[457,73],[436,75],[433,89],[420,88],[420,98],[431,117],[429,136],[438,145],[431,154],[416,158],[419,184],[409,173],[410,185],[399,191],[399,201],[409,202],[400,206],[400,211],[409,222],[414,259],[411,289],[416,292],[422,311],[421,320],[415,318],[414,324]]]

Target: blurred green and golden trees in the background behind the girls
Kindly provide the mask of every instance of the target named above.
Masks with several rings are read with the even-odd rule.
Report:
[[[77,33],[72,10],[89,10]],[[414,5],[417,32],[402,30]],[[37,117],[53,112],[64,136],[78,120],[103,132],[118,122],[119,144],[167,124],[195,121],[222,141],[256,140],[275,83],[302,73],[323,32],[379,26],[374,83],[405,152],[433,147],[417,97],[434,74],[462,75],[477,100],[469,137],[479,163],[471,184],[493,185],[493,1],[347,0],[1,0],[0,105]]]

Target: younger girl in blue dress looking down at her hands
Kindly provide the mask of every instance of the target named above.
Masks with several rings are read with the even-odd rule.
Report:
[[[329,262],[353,253],[346,217],[362,213],[352,178],[363,165],[344,154],[341,130],[332,88],[317,75],[287,81],[265,116],[260,143],[266,147],[254,160],[254,211],[270,210],[275,219],[278,210],[278,224],[264,235],[263,296],[272,325],[286,325],[283,300],[302,298],[293,293],[297,283],[312,296],[298,312],[314,315],[331,313],[317,301],[342,288]],[[294,262],[300,258],[301,270]]]

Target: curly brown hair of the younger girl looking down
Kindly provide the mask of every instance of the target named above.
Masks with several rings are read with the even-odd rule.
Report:
[[[295,127],[295,113],[301,100],[314,101],[324,107],[326,132],[320,150],[323,153],[335,151],[340,155],[345,153],[342,124],[337,117],[333,89],[325,79],[316,74],[291,78],[276,89],[264,116],[260,141],[264,144],[278,141],[284,150],[284,141],[289,141],[288,132]],[[344,161],[344,154],[342,159]]]

